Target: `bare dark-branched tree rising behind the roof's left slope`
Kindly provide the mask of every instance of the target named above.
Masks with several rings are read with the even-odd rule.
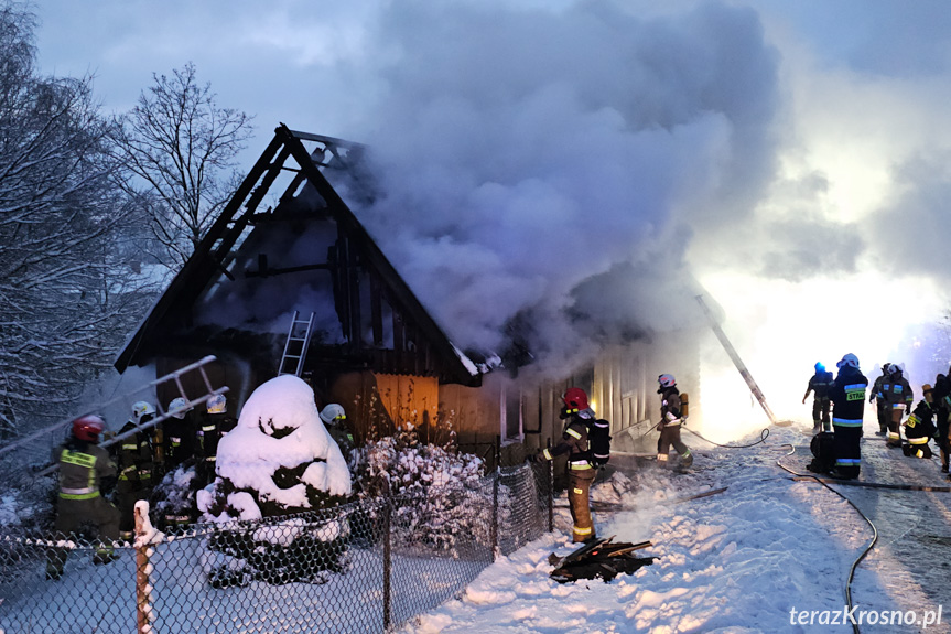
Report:
[[[121,118],[116,146],[125,186],[145,211],[173,272],[188,259],[237,184],[235,157],[251,136],[251,118],[220,108],[210,84],[198,84],[192,63],[139,95]]]

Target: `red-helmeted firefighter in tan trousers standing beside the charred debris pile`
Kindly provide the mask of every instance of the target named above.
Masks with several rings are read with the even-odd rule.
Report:
[[[560,418],[565,421],[561,441],[551,449],[529,455],[530,462],[552,460],[568,453],[568,503],[571,509],[572,540],[590,541],[596,538],[591,518],[591,484],[597,470],[591,464],[587,445],[587,428],[596,420],[594,410],[587,404],[587,394],[579,387],[571,387],[562,396],[564,407]]]

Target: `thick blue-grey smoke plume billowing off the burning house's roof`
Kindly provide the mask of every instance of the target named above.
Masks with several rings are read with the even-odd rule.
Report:
[[[378,29],[359,138],[379,190],[358,215],[457,344],[564,361],[585,347],[572,315],[677,325],[655,302],[692,232],[742,222],[774,170],[754,11],[400,2]]]

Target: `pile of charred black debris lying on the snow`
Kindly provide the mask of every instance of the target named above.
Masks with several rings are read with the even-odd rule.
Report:
[[[554,566],[551,578],[559,583],[579,579],[604,579],[608,582],[620,573],[631,574],[641,566],[653,563],[655,557],[637,558],[631,555],[635,550],[651,546],[650,541],[615,542],[614,537],[593,539],[564,557],[552,552],[548,558],[548,562]]]

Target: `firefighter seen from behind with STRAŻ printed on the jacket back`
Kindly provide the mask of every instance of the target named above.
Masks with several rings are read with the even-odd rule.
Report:
[[[849,353],[836,364],[839,375],[832,383],[832,431],[835,434],[835,466],[832,477],[858,477],[862,468],[862,417],[868,379],[858,367],[858,357]]]

